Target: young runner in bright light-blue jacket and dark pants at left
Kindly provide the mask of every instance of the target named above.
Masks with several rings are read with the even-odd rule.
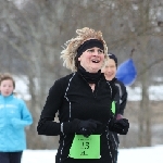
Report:
[[[33,123],[25,102],[13,96],[14,83],[8,75],[0,77],[0,162],[21,163],[26,149],[25,126]]]

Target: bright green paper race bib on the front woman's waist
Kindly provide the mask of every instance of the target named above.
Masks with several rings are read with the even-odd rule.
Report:
[[[75,135],[70,149],[70,158],[73,159],[100,159],[100,135]]]

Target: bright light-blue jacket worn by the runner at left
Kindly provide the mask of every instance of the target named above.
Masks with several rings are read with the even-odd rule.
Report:
[[[32,115],[23,100],[13,95],[0,95],[0,151],[26,149],[24,127],[32,123]]]

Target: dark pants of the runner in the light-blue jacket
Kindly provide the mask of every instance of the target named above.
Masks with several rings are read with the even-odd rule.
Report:
[[[0,152],[0,163],[21,163],[23,151],[20,152]]]

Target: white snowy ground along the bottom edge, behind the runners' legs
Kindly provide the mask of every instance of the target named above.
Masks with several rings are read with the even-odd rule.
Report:
[[[54,163],[57,150],[25,150],[22,163]],[[163,146],[120,149],[117,163],[163,163]]]

